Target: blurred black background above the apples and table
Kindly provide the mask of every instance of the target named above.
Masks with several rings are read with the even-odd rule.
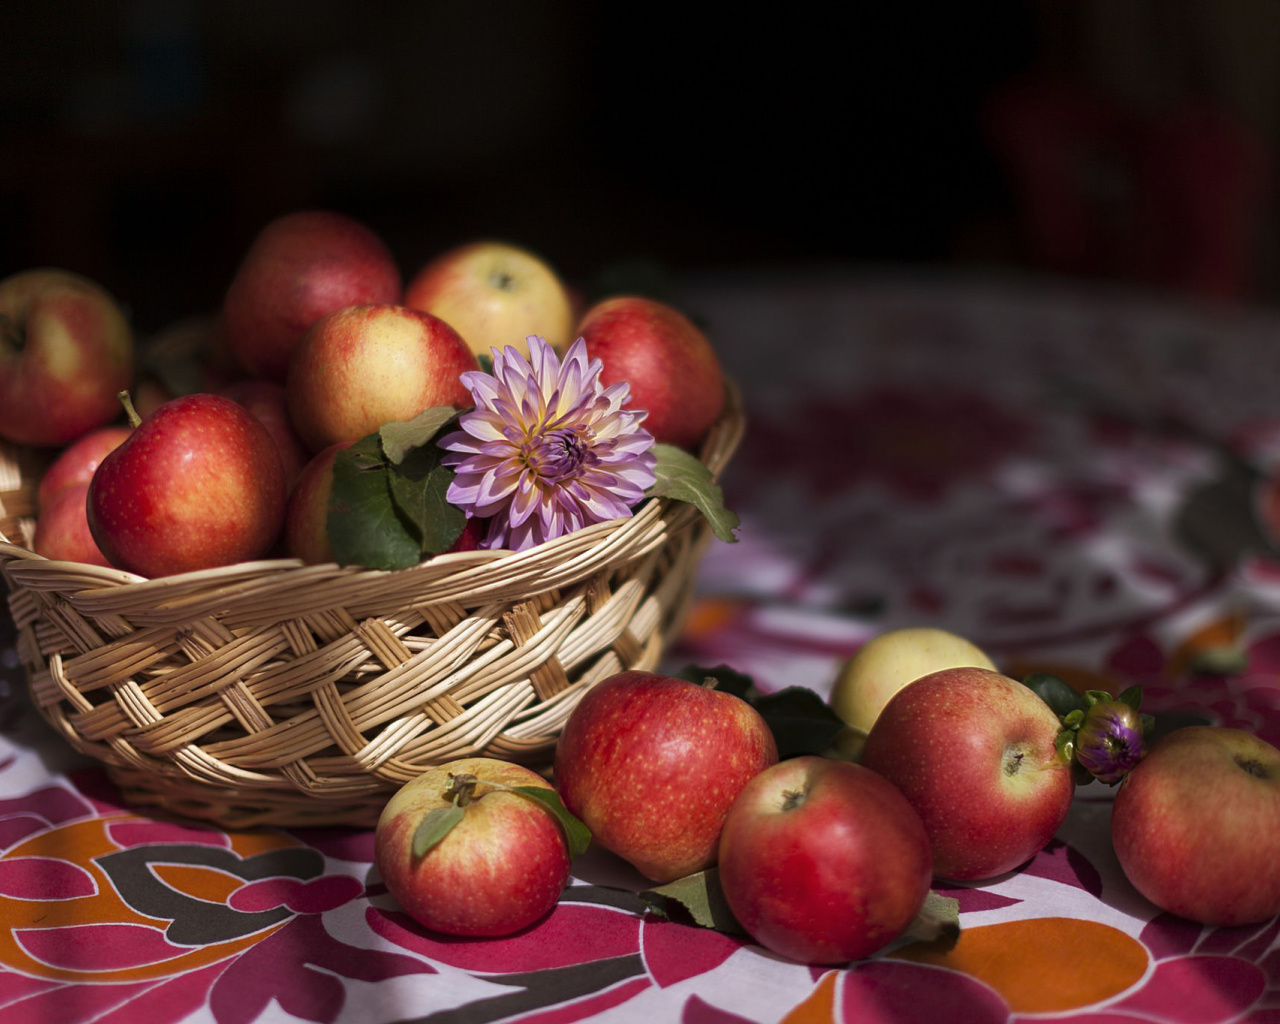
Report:
[[[1037,180],[992,146],[992,96],[1048,69],[1128,111],[1204,100],[1265,155],[1268,1],[849,5],[847,20],[568,0],[6,4],[0,275],[77,270],[157,329],[215,307],[266,220],[323,206],[378,230],[406,275],[500,237],[586,291],[620,266],[831,264],[1149,285],[1037,248]],[[1080,180],[1112,180],[1097,163]],[[1256,191],[1229,291],[1266,300]]]

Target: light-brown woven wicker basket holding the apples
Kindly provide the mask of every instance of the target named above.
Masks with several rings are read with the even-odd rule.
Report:
[[[742,428],[731,388],[713,474]],[[658,666],[709,539],[660,499],[518,553],[145,580],[29,550],[32,465],[0,448],[0,573],[36,707],[131,803],[233,828],[367,827],[460,756],[544,765],[588,687]]]

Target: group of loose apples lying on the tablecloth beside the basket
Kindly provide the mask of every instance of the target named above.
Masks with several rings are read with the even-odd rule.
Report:
[[[554,814],[550,797],[520,800],[498,786],[502,806],[492,796],[483,813],[453,806],[448,835],[413,849],[411,837],[451,805],[447,780],[460,772],[494,783],[525,772],[552,786],[485,759],[410,782],[375,832],[388,891],[435,931],[527,927],[559,900],[584,849],[572,822],[657,892],[699,879],[765,948],[840,964],[918,934],[934,879],[978,884],[1018,870],[1052,840],[1080,782],[1064,742],[1080,716],[1060,716],[1042,691],[941,630],[881,634],[844,666],[831,710],[861,742],[823,755],[780,759],[781,733],[756,701],[714,684],[628,671],[584,694],[556,749]],[[1129,708],[1089,707],[1110,714],[1111,704]],[[1115,721],[1126,728],[1130,717]],[[1093,741],[1083,728],[1073,735]],[[1275,916],[1277,794],[1280,750],[1270,744],[1225,727],[1171,731],[1123,773],[1119,863],[1156,906],[1193,920]]]

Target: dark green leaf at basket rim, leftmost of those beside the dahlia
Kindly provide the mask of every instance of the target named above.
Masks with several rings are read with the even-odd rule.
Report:
[[[338,452],[326,522],[343,566],[407,568],[421,561],[421,540],[390,493],[390,468],[376,434]]]

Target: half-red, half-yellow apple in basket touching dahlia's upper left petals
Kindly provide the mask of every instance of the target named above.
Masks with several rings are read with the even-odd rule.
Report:
[[[479,369],[458,333],[407,306],[348,306],[316,321],[289,362],[289,417],[310,451],[353,442],[433,406],[468,408]]]

